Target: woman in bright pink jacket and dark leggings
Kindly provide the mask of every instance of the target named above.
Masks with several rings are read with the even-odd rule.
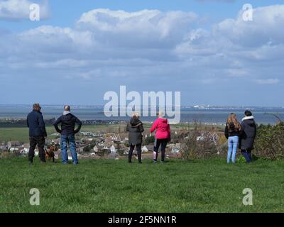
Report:
[[[165,148],[167,147],[167,143],[170,142],[170,124],[168,123],[168,119],[165,118],[165,114],[160,112],[158,114],[158,119],[155,120],[153,126],[151,128],[151,133],[155,133],[156,144],[154,146],[153,160],[154,163],[158,160],[158,150],[161,145],[162,151],[162,162],[165,162]]]

